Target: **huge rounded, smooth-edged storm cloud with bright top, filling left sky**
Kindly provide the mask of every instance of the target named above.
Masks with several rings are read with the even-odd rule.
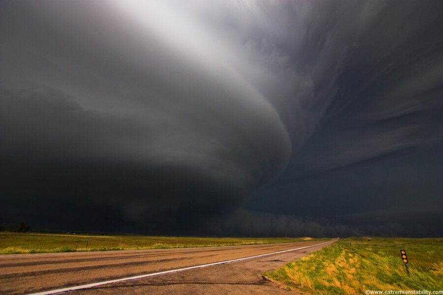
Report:
[[[186,230],[285,167],[284,124],[235,48],[130,4],[178,23],[123,2],[2,3],[3,218]]]

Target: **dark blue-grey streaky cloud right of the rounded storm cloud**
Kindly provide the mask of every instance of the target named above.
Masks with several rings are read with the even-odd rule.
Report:
[[[313,23],[315,44],[327,40],[327,54],[342,48],[345,55],[338,75],[330,72],[335,91],[314,100],[320,116],[312,136],[250,208],[326,217],[373,234],[442,235],[443,31],[433,12],[441,3],[379,4],[362,30],[336,31],[364,11],[337,18],[344,6],[334,6],[324,27]],[[331,43],[349,30],[353,38]],[[324,85],[316,87],[321,96]]]

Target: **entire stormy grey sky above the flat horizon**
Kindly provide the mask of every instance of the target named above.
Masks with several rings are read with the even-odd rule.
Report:
[[[0,223],[443,236],[442,11],[1,0]]]

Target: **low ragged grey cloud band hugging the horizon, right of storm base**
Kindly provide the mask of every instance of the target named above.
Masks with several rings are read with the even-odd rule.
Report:
[[[413,216],[413,218],[412,218]],[[416,220],[420,222],[417,223]],[[371,220],[370,222],[368,222]],[[236,210],[223,217],[211,218],[204,232],[234,236],[440,236],[436,223],[442,212],[395,211],[367,212],[335,218],[297,217],[289,214],[259,213]]]

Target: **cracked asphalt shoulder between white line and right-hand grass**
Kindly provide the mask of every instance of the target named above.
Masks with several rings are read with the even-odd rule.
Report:
[[[230,264],[208,266],[183,272],[99,286],[73,292],[76,295],[101,294],[297,294],[282,289],[262,273],[320,250],[324,244]]]

